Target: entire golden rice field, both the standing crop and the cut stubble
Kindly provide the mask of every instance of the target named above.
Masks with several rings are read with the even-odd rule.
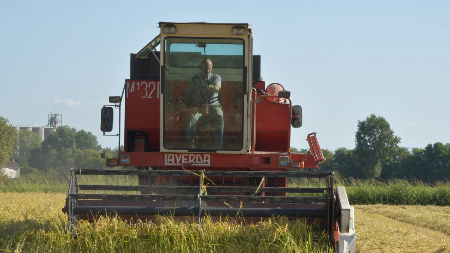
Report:
[[[107,218],[82,222],[74,238],[65,232],[64,201],[64,194],[0,193],[0,251],[332,252],[302,221],[284,219],[200,227],[166,217],[133,226]],[[359,253],[450,252],[450,207],[357,205],[355,227]]]

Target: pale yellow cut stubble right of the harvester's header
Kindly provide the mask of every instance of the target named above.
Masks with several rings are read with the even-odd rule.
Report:
[[[355,206],[360,253],[450,252],[450,207]]]

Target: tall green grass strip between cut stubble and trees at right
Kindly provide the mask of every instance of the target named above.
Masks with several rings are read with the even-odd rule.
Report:
[[[351,204],[450,206],[450,183],[426,184],[421,181],[352,180],[347,186]]]

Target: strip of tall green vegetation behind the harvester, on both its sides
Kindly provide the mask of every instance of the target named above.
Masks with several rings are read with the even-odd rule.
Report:
[[[69,173],[67,171],[67,173]],[[86,178],[89,179],[89,178]],[[88,183],[84,177],[79,183]],[[103,176],[96,176],[95,183],[105,184]],[[121,185],[138,185],[134,177],[121,178]],[[319,185],[324,182],[291,182],[298,185]],[[55,178],[51,172],[35,172],[26,174],[18,179],[7,179],[0,182],[0,192],[44,192],[44,193],[66,193],[68,181]],[[431,205],[450,206],[450,182],[437,182],[428,184],[421,181],[410,182],[407,180],[350,180],[335,177],[335,185],[345,185],[347,195],[351,204],[387,204],[387,205]],[[314,194],[312,194],[314,195]],[[61,203],[63,204],[63,203]]]

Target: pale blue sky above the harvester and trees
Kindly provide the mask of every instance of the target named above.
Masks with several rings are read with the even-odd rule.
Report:
[[[353,149],[358,120],[383,116],[401,146],[450,142],[450,1],[1,1],[0,115],[49,112],[105,147],[100,108],[120,95],[159,21],[250,23],[266,85],[303,108],[292,146]],[[116,129],[117,130],[117,129]],[[123,143],[123,142],[122,142]]]

